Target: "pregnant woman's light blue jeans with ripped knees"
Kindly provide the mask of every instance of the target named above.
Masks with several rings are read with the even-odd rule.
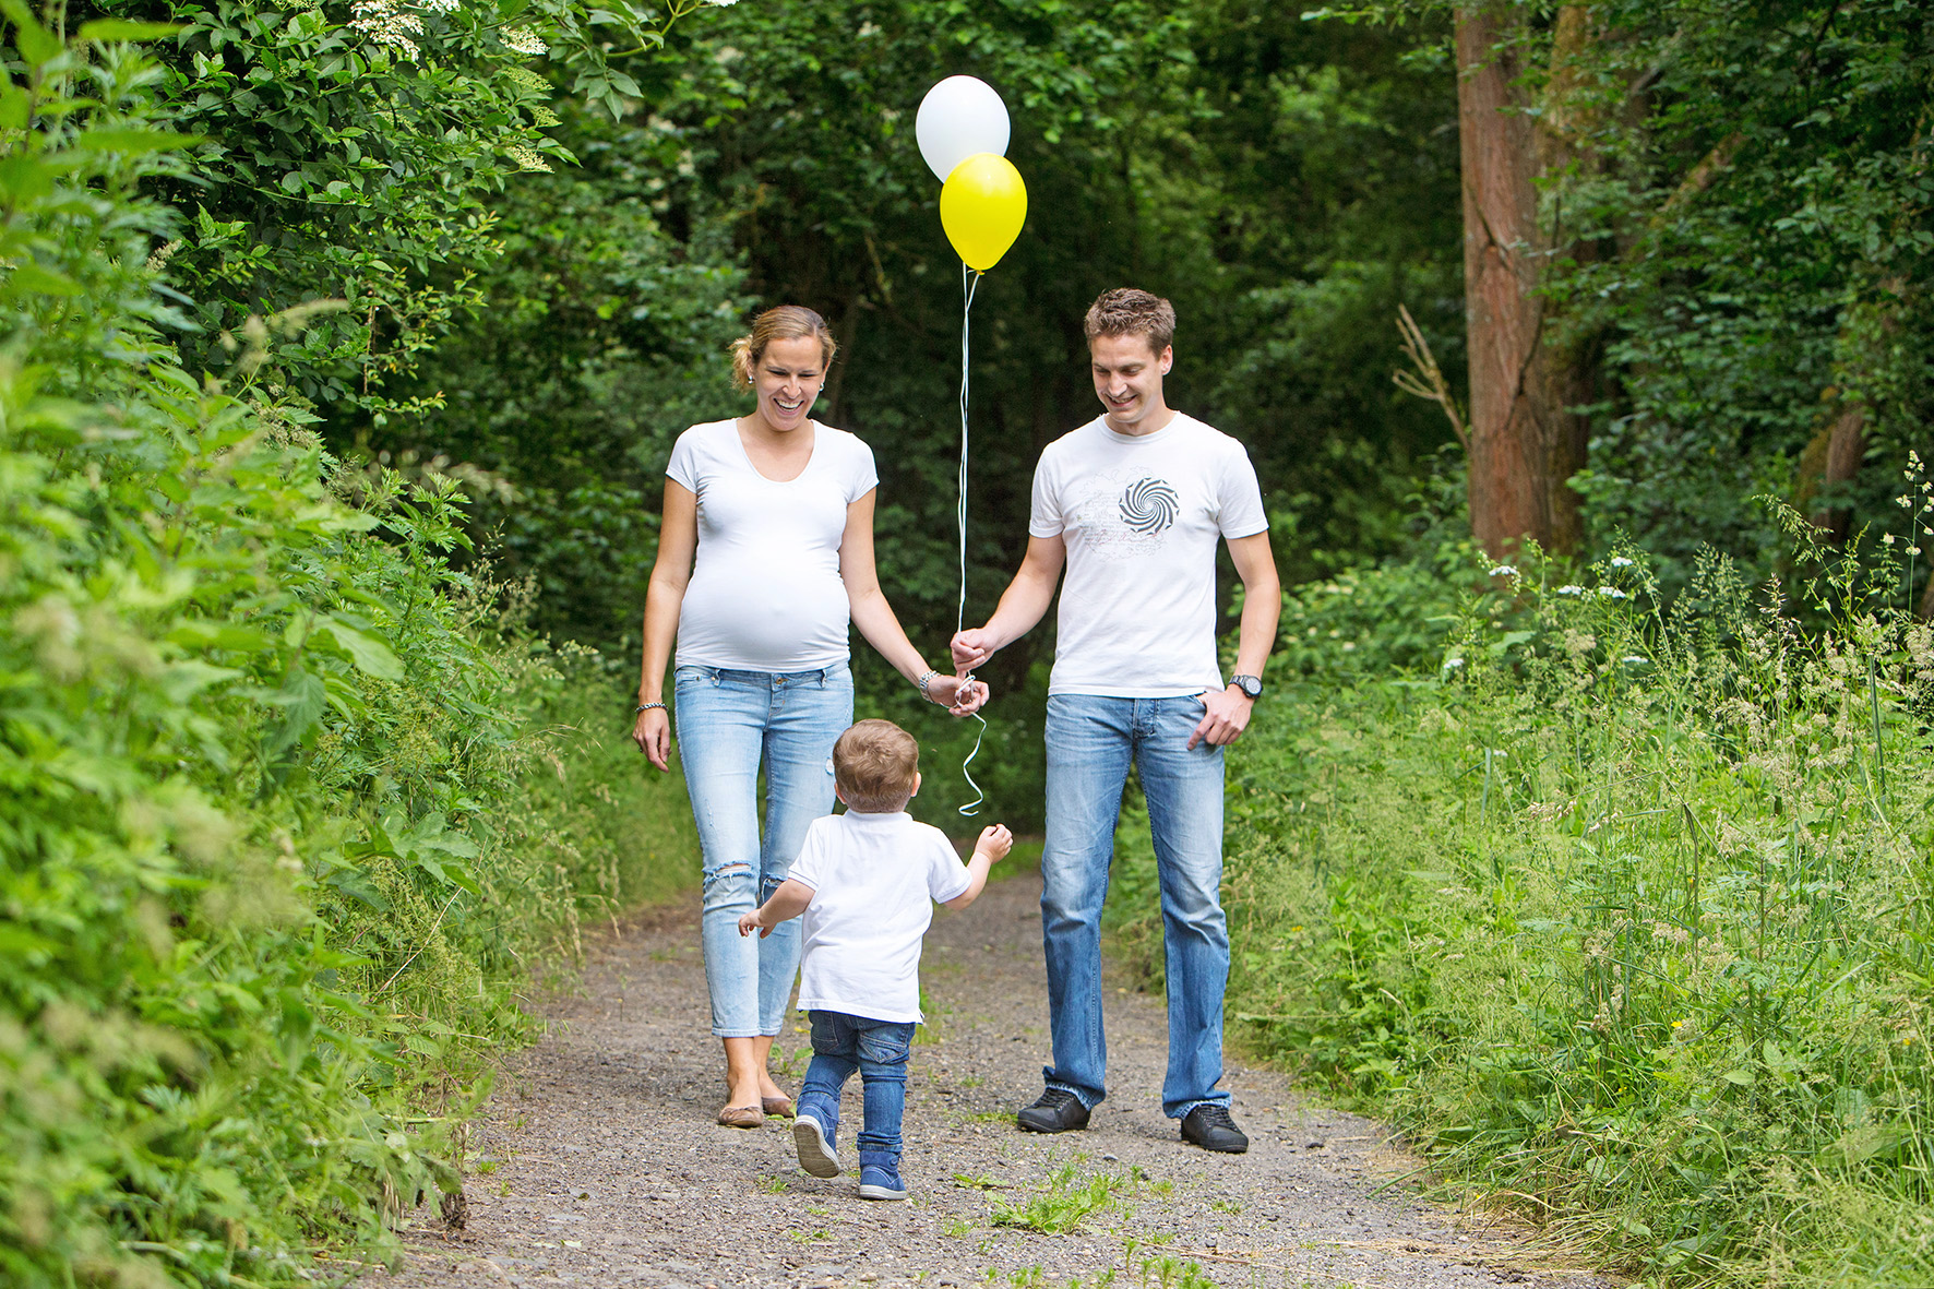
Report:
[[[787,674],[681,666],[675,681],[679,763],[704,852],[698,933],[712,1034],[772,1035],[785,1020],[799,972],[799,919],[760,939],[739,935],[739,915],[779,888],[806,824],[834,809],[834,741],[853,724],[853,674],[843,662]]]

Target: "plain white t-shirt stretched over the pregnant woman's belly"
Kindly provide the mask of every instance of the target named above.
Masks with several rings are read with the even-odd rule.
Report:
[[[880,484],[872,449],[812,426],[799,478],[752,466],[737,420],[692,426],[665,476],[698,497],[698,557],[679,608],[679,666],[812,672],[847,660],[839,579],[847,507]]]

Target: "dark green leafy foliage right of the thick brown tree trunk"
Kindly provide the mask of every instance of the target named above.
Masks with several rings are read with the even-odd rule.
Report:
[[[1551,188],[1582,232],[1553,298],[1601,337],[1619,391],[1578,482],[1590,523],[1638,538],[1675,588],[1704,544],[1772,571],[1764,492],[1897,530],[1882,463],[1934,410],[1924,6],[1592,14],[1563,66],[1590,153]],[[1826,428],[1853,405],[1868,465],[1822,492]]]

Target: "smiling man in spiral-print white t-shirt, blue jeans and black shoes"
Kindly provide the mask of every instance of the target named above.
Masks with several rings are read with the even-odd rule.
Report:
[[[1033,1132],[1085,1128],[1106,1095],[1100,906],[1129,763],[1141,772],[1162,888],[1168,1076],[1162,1113],[1182,1138],[1242,1154],[1222,1080],[1222,749],[1263,691],[1282,588],[1242,443],[1162,401],[1176,312],[1108,290],[1087,314],[1102,416],[1040,453],[1027,555],[984,627],[953,637],[963,674],[1025,635],[1062,586],[1048,683],[1048,840],[1040,935],[1054,1064],[1019,1113]],[[1244,585],[1228,685],[1216,666],[1215,544]]]

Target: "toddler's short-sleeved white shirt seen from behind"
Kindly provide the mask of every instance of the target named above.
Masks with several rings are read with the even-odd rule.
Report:
[[[812,886],[799,1010],[923,1020],[921,941],[934,904],[963,894],[967,865],[940,828],[894,815],[828,815],[787,873]]]

